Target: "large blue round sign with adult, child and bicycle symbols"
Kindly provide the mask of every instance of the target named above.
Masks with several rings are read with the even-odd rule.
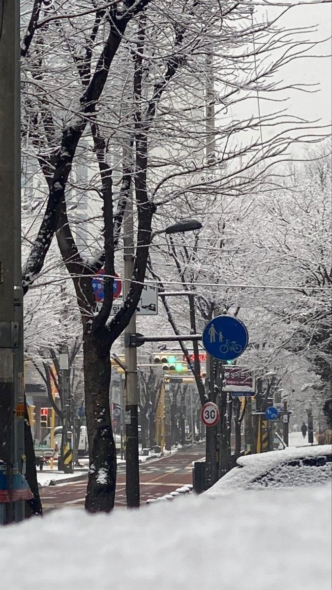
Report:
[[[234,316],[214,317],[205,326],[202,341],[206,352],[219,360],[232,360],[248,346],[248,330]]]

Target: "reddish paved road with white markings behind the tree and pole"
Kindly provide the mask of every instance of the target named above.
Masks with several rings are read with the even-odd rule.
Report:
[[[203,458],[204,444],[184,448],[177,453],[158,460],[147,461],[139,466],[141,503],[148,498],[157,498],[174,491],[177,487],[192,483],[192,462]],[[63,507],[84,506],[86,480],[69,484],[48,486],[40,490],[44,512]],[[125,466],[118,467],[115,506],[126,506]]]

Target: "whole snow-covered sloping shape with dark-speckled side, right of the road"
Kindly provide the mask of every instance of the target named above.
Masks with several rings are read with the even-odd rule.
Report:
[[[229,494],[266,487],[317,486],[331,483],[332,447],[294,447],[237,459],[237,466],[205,493]]]

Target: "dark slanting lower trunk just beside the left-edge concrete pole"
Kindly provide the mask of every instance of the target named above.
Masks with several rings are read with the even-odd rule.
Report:
[[[24,396],[24,448],[25,457],[27,460],[27,467],[25,477],[30,486],[30,490],[34,497],[31,500],[25,500],[25,518],[30,518],[34,514],[41,516],[43,514],[43,507],[41,506],[40,495],[38,490],[37,472],[35,465],[35,451],[34,441],[32,440],[29,415],[27,409],[27,401]]]

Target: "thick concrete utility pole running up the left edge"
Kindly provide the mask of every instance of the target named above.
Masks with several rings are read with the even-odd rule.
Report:
[[[19,99],[19,0],[0,0],[0,461],[9,496],[13,472],[25,468]],[[0,523],[22,519],[23,501],[0,499]]]

